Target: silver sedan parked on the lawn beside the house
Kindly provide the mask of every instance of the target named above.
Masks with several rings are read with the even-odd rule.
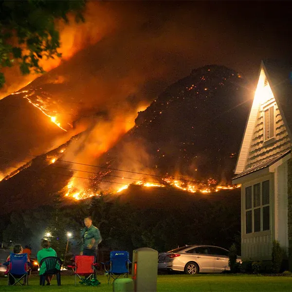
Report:
[[[158,270],[180,271],[185,274],[221,273],[230,271],[228,250],[210,245],[188,245],[160,253]],[[241,262],[241,258],[237,257]]]

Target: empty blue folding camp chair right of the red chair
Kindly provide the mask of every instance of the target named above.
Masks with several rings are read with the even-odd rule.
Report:
[[[129,274],[129,253],[125,251],[110,252],[110,261],[102,263],[105,265],[108,284],[111,284],[118,277],[128,278]],[[106,265],[110,265],[110,269],[106,269]],[[110,280],[112,282],[110,283]]]

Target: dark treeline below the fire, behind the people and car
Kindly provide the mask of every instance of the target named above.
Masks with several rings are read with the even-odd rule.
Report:
[[[182,210],[179,201],[165,208],[137,208],[118,200],[109,202],[106,196],[70,205],[64,205],[57,198],[51,206],[3,216],[0,221],[0,241],[31,244],[37,251],[41,238],[50,232],[53,248],[63,257],[66,233],[73,233],[70,238],[71,249],[77,252],[83,219],[91,215],[103,237],[101,247],[110,250],[132,251],[139,247],[150,247],[162,252],[185,244],[212,244],[229,248],[233,242],[240,244],[238,200],[237,194],[229,194],[216,201],[194,200]]]

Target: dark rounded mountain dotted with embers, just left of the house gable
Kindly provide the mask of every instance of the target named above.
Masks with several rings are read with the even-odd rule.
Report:
[[[162,175],[230,183],[248,95],[247,84],[234,70],[217,65],[193,70],[139,112],[135,127],[98,162],[121,168],[121,149],[134,145],[149,155],[147,167]],[[133,161],[139,160],[136,154],[127,153]],[[135,168],[130,161],[124,168],[131,164]]]

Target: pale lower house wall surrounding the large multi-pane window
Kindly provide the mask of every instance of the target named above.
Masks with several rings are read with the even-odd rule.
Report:
[[[245,188],[270,180],[270,230],[245,234]],[[241,187],[241,257],[243,261],[271,260],[275,234],[274,173],[242,183]],[[254,221],[253,221],[254,225]]]

